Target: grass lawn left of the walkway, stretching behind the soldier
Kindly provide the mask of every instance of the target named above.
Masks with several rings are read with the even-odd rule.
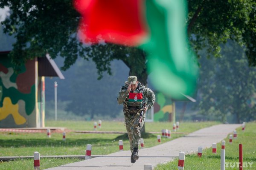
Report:
[[[180,123],[179,132],[193,132],[203,127],[215,125],[217,122],[185,122]],[[70,130],[93,130],[93,121],[47,121],[47,127],[66,127]],[[170,122],[146,123],[146,131],[161,133],[161,129],[172,129]],[[99,128],[98,128],[99,129]],[[126,131],[123,122],[102,121],[99,130]],[[146,133],[144,147],[152,147],[157,144],[157,135]],[[172,139],[183,134],[172,134]],[[124,150],[129,150],[129,141],[124,134],[94,134],[94,133],[66,133],[66,141],[62,141],[62,133],[52,133],[47,138],[46,133],[0,133],[0,156],[33,156],[38,151],[41,156],[49,155],[84,155],[87,144],[92,144],[92,155],[109,154],[119,151],[118,141],[122,139]],[[162,138],[163,142],[172,139]],[[56,167],[62,164],[79,161],[79,159],[41,159],[41,169]],[[19,166],[20,170],[33,169],[32,160],[17,160],[0,163],[0,170],[12,170]]]

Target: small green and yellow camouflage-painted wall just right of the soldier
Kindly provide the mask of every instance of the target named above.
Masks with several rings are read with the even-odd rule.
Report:
[[[173,121],[174,105],[172,99],[155,92],[156,101],[154,103],[154,121]]]

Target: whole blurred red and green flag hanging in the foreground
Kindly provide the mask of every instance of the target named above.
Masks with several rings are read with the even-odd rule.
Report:
[[[198,63],[187,42],[185,0],[74,0],[74,6],[82,42],[142,48],[156,90],[174,99],[193,95]]]

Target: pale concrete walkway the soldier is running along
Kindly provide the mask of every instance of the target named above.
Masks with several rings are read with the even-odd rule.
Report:
[[[240,126],[241,124],[214,125],[170,142],[140,149],[140,158],[135,164],[130,161],[130,151],[121,151],[47,170],[143,170],[144,164],[150,163],[154,167],[159,163],[172,161],[179,155],[179,151],[184,151],[187,154],[197,152],[199,146],[212,147],[212,143],[221,142],[229,133]]]

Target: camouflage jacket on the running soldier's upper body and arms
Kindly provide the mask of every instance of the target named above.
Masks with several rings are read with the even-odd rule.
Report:
[[[119,95],[117,97],[117,102],[119,105],[122,103],[124,104],[124,109],[126,110],[129,107],[138,107],[138,109],[142,108],[143,101],[146,102],[146,108],[149,110],[155,102],[155,95],[154,92],[151,91],[151,89],[145,87],[144,85],[141,85],[140,82],[138,82],[138,87],[136,88],[135,91],[129,92],[127,91],[128,88],[128,81],[125,82],[125,85],[122,86],[121,90],[119,91]],[[129,95],[132,96],[137,96],[137,94],[142,94],[143,99],[140,99],[140,97],[131,99],[131,96],[129,98]]]

